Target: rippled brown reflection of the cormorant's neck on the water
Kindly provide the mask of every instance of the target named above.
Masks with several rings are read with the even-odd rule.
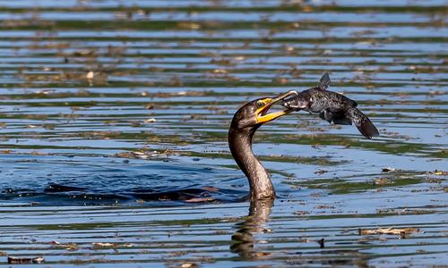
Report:
[[[266,222],[269,222],[273,202],[273,199],[254,200],[251,202],[246,221],[236,224],[238,230],[232,236],[231,252],[249,260],[271,255],[270,253],[257,250],[254,246],[260,242],[255,238],[257,234],[270,231],[266,227]]]

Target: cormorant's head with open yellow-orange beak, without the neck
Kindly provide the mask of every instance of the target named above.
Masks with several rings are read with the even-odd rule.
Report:
[[[296,95],[297,91],[291,90],[280,96],[263,97],[248,102],[235,113],[230,128],[235,130],[256,130],[265,122],[275,120],[282,115],[291,113],[293,110],[290,109],[272,113],[269,113],[269,110],[272,105],[283,101],[283,99],[289,96]]]

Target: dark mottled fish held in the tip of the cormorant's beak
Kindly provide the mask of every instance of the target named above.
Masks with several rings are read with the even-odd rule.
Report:
[[[359,132],[366,138],[379,136],[375,125],[366,114],[358,110],[358,104],[339,93],[327,90],[330,86],[330,76],[323,74],[319,86],[308,88],[297,96],[291,96],[282,103],[294,111],[304,110],[309,113],[319,113],[319,116],[335,124],[357,126]]]

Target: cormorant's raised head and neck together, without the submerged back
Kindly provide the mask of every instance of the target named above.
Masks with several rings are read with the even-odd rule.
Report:
[[[274,98],[265,97],[251,101],[238,109],[230,123],[228,147],[239,168],[249,180],[251,201],[275,198],[271,176],[252,151],[252,138],[263,123],[293,112],[287,109],[268,113],[272,105],[292,95],[297,95],[297,92],[292,90]]]

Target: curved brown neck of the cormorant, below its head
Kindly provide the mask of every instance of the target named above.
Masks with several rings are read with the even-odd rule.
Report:
[[[275,198],[271,176],[252,151],[252,137],[254,133],[246,135],[247,133],[245,132],[230,130],[228,134],[230,152],[239,168],[245,172],[249,180],[251,200]]]

